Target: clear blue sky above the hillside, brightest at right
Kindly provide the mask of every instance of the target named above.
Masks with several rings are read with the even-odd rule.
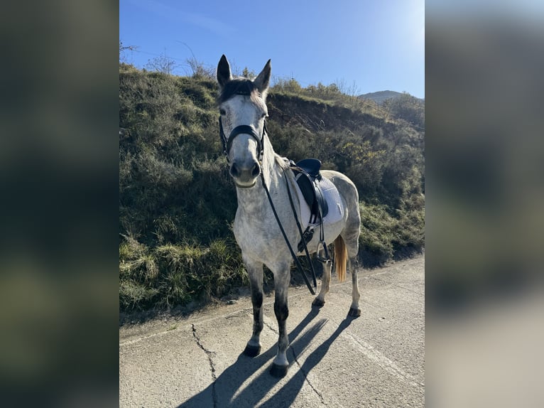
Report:
[[[423,98],[424,36],[424,0],[119,1],[119,39],[137,47],[127,62],[167,55],[178,75],[192,53],[210,68],[225,54],[239,72],[271,58],[273,80]]]

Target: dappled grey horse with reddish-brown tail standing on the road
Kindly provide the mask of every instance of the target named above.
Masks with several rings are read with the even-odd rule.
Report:
[[[271,60],[254,80],[233,77],[229,61],[222,55],[217,65],[219,84],[219,126],[224,153],[229,163],[229,174],[236,186],[238,208],[234,219],[234,237],[241,249],[241,257],[249,275],[253,305],[253,333],[246,344],[244,355],[255,357],[261,353],[260,334],[263,330],[263,264],[273,273],[274,313],[278,321],[278,353],[271,366],[271,375],[283,377],[288,371],[285,355],[289,345],[285,329],[289,315],[288,286],[293,257],[286,247],[297,245],[300,229],[298,196],[288,197],[295,190],[295,176],[287,159],[273,150],[266,131],[268,117],[266,96],[271,77]],[[228,135],[228,136],[225,136]],[[343,218],[324,227],[326,245],[334,242],[334,265],[339,281],[345,279],[347,261],[352,274],[352,304],[348,316],[361,315],[357,282],[357,252],[361,219],[359,194],[354,183],[337,171],[321,171],[322,177],[337,188],[343,205]],[[267,191],[269,197],[264,193]],[[295,205],[291,205],[290,201]],[[293,214],[293,210],[296,214]],[[274,214],[276,213],[276,215]],[[284,235],[280,225],[283,225]],[[286,245],[288,242],[288,245]],[[317,251],[319,237],[308,242],[311,253]],[[326,248],[326,246],[325,246]],[[302,255],[298,252],[298,255]],[[325,305],[330,289],[332,262],[324,266],[319,294],[312,307]]]

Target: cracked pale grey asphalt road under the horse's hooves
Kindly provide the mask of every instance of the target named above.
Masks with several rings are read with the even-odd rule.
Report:
[[[348,318],[351,279],[333,275],[322,308],[291,287],[288,374],[276,379],[273,296],[261,355],[242,355],[251,300],[119,330],[120,407],[423,407],[425,257],[359,272],[361,316]]]

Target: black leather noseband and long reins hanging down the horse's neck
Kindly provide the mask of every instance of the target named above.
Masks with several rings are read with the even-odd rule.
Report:
[[[293,250],[293,247],[291,247],[291,245],[289,243],[287,234],[285,234],[285,230],[283,229],[283,225],[281,225],[281,220],[278,217],[278,213],[276,212],[276,207],[274,206],[274,203],[272,202],[270,191],[268,191],[268,187],[266,186],[266,182],[264,180],[264,174],[263,174],[263,168],[262,168],[262,159],[263,159],[263,142],[262,142],[262,139],[264,138],[266,133],[267,133],[267,131],[266,131],[266,121],[264,122],[263,134],[262,134],[262,136],[260,138],[259,138],[259,135],[256,133],[256,131],[255,131],[255,129],[253,127],[248,126],[246,124],[242,124],[240,126],[235,127],[234,129],[232,129],[232,131],[229,134],[229,139],[227,139],[225,137],[225,134],[224,134],[224,131],[223,131],[223,124],[221,122],[221,117],[219,117],[219,136],[221,136],[221,141],[222,141],[222,144],[223,144],[223,153],[225,154],[225,156],[227,156],[227,162],[228,163],[230,163],[229,152],[230,152],[230,149],[231,149],[231,146],[232,146],[232,142],[234,141],[234,138],[236,138],[236,136],[238,136],[239,134],[249,134],[249,136],[251,136],[257,142],[257,160],[259,161],[259,168],[260,168],[259,173],[261,173],[261,181],[263,183],[263,188],[264,188],[264,190],[266,192],[266,197],[268,198],[268,202],[271,205],[272,212],[274,214],[274,217],[276,218],[276,222],[278,222],[278,226],[280,227],[281,234],[283,235],[283,240],[285,240],[285,244],[287,244],[287,247],[289,248],[289,252],[291,253],[291,257],[293,257],[293,260],[295,261],[295,265],[296,265],[297,269],[299,270],[300,274],[303,275],[304,281],[306,283],[306,286],[308,286],[308,289],[310,290],[310,293],[312,295],[315,295],[315,293],[317,291],[317,280],[315,278],[315,269],[314,269],[314,266],[313,266],[312,259],[310,258],[310,252],[308,252],[308,246],[306,245],[305,239],[303,237],[303,234],[304,234],[303,229],[300,226],[300,222],[298,221],[297,212],[295,210],[295,204],[293,203],[293,197],[291,195],[291,191],[290,191],[290,188],[289,188],[289,182],[288,182],[287,174],[285,173],[285,169],[283,169],[283,176],[284,176],[283,178],[285,179],[285,187],[287,188],[287,195],[289,197],[289,203],[291,205],[291,210],[293,210],[293,216],[295,217],[295,222],[296,222],[297,227],[298,227],[298,232],[300,233],[300,237],[301,237],[302,242],[303,242],[303,247],[304,247],[306,259],[308,259],[308,263],[310,264],[310,269],[311,269],[311,272],[312,272],[313,287],[310,285],[310,281],[308,280],[308,277],[306,276],[306,272],[305,272],[302,264],[300,264],[300,261],[298,260],[298,257],[295,254],[295,251]]]

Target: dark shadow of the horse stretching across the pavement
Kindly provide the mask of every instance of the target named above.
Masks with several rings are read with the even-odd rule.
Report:
[[[317,316],[319,309],[313,307],[308,315],[301,321],[296,328],[289,334],[290,347],[288,350],[289,370],[296,370],[288,382],[285,382],[273,397],[269,398],[261,407],[290,407],[296,396],[303,387],[306,375],[313,367],[319,363],[327,354],[330,345],[352,322],[353,318],[347,317],[340,323],[337,330],[330,335],[319,347],[317,347],[305,359],[302,367],[295,363],[295,351],[300,355],[305,348],[308,347],[312,338],[319,333],[327,319],[322,318],[304,333],[298,337],[303,329]],[[261,369],[263,364],[266,364],[276,355],[277,343],[268,349],[265,353],[258,355],[255,358],[249,358],[245,355],[239,355],[234,364],[224,370],[219,377],[209,385],[205,390],[195,394],[187,401],[183,402],[178,408],[201,408],[201,407],[255,407],[263,397],[278,383],[278,379],[272,377],[268,369],[251,381],[251,384],[246,385],[243,390],[240,387],[244,382]],[[294,364],[293,364],[294,363]]]

